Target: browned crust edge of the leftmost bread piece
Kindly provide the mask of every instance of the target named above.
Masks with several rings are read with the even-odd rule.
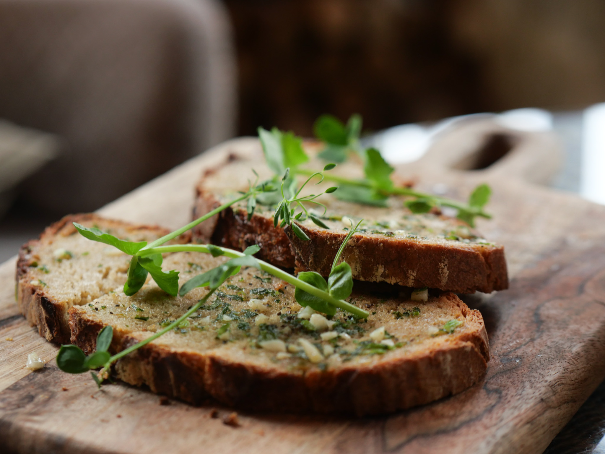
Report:
[[[45,228],[38,239],[30,240],[21,246],[15,276],[19,311],[31,326],[38,327],[38,333],[42,337],[57,344],[67,344],[70,341],[69,306],[65,301],[53,298],[44,288],[30,283],[34,278],[33,275],[30,275],[31,263],[35,261],[31,255],[35,254],[36,249],[52,242],[54,237],[68,236],[76,232],[76,228],[72,225],[73,222],[95,222],[105,228],[128,228],[133,232],[154,231],[158,235],[165,235],[169,232],[159,226],[134,225],[106,219],[94,213],[69,214]]]

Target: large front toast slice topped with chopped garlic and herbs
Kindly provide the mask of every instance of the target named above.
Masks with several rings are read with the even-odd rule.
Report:
[[[180,270],[182,284],[223,260],[179,252],[164,266]],[[180,317],[206,292],[170,297],[153,281],[132,297],[116,289],[70,309],[71,342],[93,352],[98,332],[111,325],[115,353]],[[461,392],[486,370],[481,314],[454,294],[425,302],[353,294],[353,304],[370,312],[367,320],[339,311],[327,321],[299,318],[293,293],[277,278],[244,269],[186,323],[117,361],[114,372],[191,403],[215,398],[243,409],[367,415]]]

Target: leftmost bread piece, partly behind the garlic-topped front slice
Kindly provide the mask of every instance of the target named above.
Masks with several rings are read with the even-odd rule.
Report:
[[[19,310],[38,326],[42,337],[69,343],[68,309],[91,303],[126,281],[130,256],[77,233],[72,222],[96,226],[122,239],[152,241],[169,231],[104,219],[95,214],[68,215],[38,240],[25,243],[17,262]]]

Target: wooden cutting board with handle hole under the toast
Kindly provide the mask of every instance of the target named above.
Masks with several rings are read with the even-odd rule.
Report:
[[[103,215],[172,228],[189,220],[202,169],[236,139],[173,169],[106,206]],[[511,149],[502,159],[497,159]],[[14,297],[15,260],[0,266],[0,447],[27,453],[221,454],[396,452],[540,453],[605,377],[605,207],[529,182],[552,174],[548,134],[511,133],[491,120],[444,133],[418,163],[397,169],[419,187],[468,197],[480,182],[494,191],[486,237],[503,243],[511,287],[470,295],[491,344],[482,383],[459,395],[379,418],[240,413],[192,407],[125,384],[97,390],[87,375],[54,364],[57,348],[28,326]],[[477,167],[485,169],[469,170]],[[48,361],[24,369],[32,351]]]

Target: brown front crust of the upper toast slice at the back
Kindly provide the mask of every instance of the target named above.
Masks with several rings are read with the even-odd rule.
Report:
[[[310,241],[303,241],[286,226],[299,271],[330,274],[332,262],[346,234],[300,226]],[[353,278],[385,281],[413,288],[436,288],[457,293],[491,293],[508,288],[502,246],[419,243],[402,237],[353,235],[342,252]]]

